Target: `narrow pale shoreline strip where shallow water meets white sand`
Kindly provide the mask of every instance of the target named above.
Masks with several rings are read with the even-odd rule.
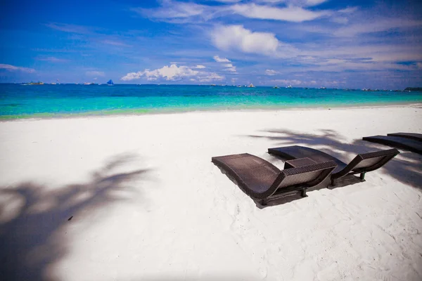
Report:
[[[388,103],[388,104],[366,104],[366,105],[318,105],[318,106],[305,106],[305,107],[256,107],[256,108],[232,108],[232,109],[195,109],[195,110],[151,110],[148,112],[112,112],[108,111],[94,111],[84,113],[68,113],[68,114],[57,114],[57,115],[46,115],[49,116],[34,116],[34,115],[0,115],[1,122],[15,122],[15,121],[37,121],[37,120],[50,120],[50,119],[87,119],[87,118],[104,118],[104,117],[134,117],[134,116],[145,116],[145,115],[179,115],[186,113],[219,113],[219,112],[279,112],[279,111],[296,111],[296,110],[346,110],[346,109],[370,109],[370,108],[400,108],[400,107],[422,107],[422,103]],[[129,110],[128,110],[129,111]],[[37,115],[44,115],[39,113]],[[13,117],[11,117],[13,116]],[[19,117],[15,117],[19,116]]]

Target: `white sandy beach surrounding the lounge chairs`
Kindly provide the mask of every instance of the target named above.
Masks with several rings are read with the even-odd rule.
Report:
[[[422,280],[422,157],[260,209],[210,160],[422,133],[418,106],[0,123],[0,279]],[[4,276],[4,275],[3,275]],[[3,279],[7,280],[7,279]]]

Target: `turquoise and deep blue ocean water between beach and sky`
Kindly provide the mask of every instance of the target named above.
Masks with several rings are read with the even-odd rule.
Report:
[[[422,93],[236,86],[0,84],[0,119],[404,103],[422,103]]]

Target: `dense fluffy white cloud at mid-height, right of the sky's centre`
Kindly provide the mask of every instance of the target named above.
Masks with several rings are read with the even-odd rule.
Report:
[[[276,55],[279,47],[285,44],[269,32],[252,32],[242,25],[219,26],[211,34],[213,44],[223,50],[231,49],[243,53]]]

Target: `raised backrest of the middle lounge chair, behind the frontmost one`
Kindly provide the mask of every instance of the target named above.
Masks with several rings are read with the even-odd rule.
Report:
[[[343,169],[337,174],[333,175],[335,178],[340,178],[349,174],[350,171],[355,173],[364,173],[368,171],[373,171],[378,168],[381,168],[385,163],[390,161],[400,152],[399,150],[392,148],[390,150],[380,150],[376,152],[369,152],[364,154],[359,154]]]

